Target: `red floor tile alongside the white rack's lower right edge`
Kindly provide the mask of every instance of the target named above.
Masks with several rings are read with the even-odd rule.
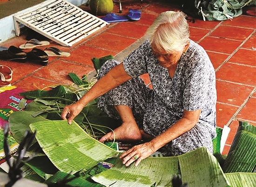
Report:
[[[123,36],[118,36],[110,33],[101,33],[93,40],[86,42],[86,45],[98,47],[104,50],[120,52],[132,45],[136,39],[131,39]]]

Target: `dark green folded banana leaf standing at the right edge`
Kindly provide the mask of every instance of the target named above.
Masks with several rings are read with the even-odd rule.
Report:
[[[224,173],[251,173],[256,166],[256,135],[241,130],[236,133],[224,162]]]

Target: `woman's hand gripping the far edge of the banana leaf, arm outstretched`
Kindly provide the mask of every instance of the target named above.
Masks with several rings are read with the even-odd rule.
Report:
[[[75,116],[77,116],[83,110],[83,105],[79,102],[76,102],[71,105],[67,105],[64,107],[61,118],[67,120],[68,124],[71,124]]]

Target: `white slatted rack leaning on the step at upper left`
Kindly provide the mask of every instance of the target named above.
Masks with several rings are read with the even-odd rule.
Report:
[[[72,46],[109,23],[65,0],[47,0],[13,16],[16,35],[21,23],[53,41]]]

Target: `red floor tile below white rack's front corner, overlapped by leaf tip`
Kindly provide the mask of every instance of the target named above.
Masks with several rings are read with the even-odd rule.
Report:
[[[62,58],[63,60],[81,63],[85,65],[93,66],[92,58],[101,58],[107,55],[116,55],[116,52],[98,49],[95,47],[80,45],[75,50],[70,52],[70,57]]]

